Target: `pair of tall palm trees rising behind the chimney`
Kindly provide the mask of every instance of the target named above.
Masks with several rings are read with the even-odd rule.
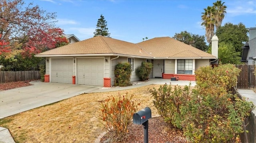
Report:
[[[226,14],[227,6],[224,6],[225,2],[216,1],[213,3],[213,6],[208,6],[204,8],[204,12],[202,12],[202,26],[205,27],[206,30],[206,40],[208,43],[211,43],[211,39],[214,35],[214,26],[216,30],[221,25],[222,20]]]

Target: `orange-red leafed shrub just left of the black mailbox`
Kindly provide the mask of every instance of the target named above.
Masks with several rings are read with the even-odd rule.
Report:
[[[133,114],[138,110],[138,101],[133,100],[133,95],[110,96],[100,104],[100,120],[105,128],[110,131],[112,142],[124,142],[128,137],[128,125],[132,122]]]

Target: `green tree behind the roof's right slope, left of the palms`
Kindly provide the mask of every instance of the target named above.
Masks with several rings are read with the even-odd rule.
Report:
[[[188,45],[192,45],[193,47],[196,47],[202,51],[207,51],[208,49],[203,35],[196,35],[188,33],[187,31],[181,31],[180,33],[175,33],[173,38]]]

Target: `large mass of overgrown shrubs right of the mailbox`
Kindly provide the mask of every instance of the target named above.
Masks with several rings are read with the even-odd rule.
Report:
[[[196,71],[193,90],[167,85],[150,90],[154,106],[192,142],[239,142],[239,134],[244,131],[242,123],[254,108],[252,102],[230,92],[239,71],[230,64],[201,67]]]

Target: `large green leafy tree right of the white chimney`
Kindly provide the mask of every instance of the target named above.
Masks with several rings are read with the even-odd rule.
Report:
[[[235,51],[242,55],[242,46],[249,40],[249,30],[241,22],[239,24],[226,23],[216,31],[219,42],[230,43]]]

